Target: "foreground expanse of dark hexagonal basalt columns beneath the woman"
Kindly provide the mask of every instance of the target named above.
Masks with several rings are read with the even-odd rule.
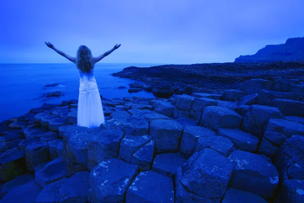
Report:
[[[220,94],[101,98],[96,128],[77,126],[75,99],[5,120],[0,202],[304,202],[302,71]]]

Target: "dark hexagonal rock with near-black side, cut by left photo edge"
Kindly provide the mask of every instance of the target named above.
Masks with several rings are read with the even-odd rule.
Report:
[[[0,153],[0,181],[10,181],[25,172],[24,151],[15,148]]]

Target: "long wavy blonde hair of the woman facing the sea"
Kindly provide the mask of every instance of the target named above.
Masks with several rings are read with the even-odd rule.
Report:
[[[80,71],[89,73],[93,69],[93,55],[91,49],[85,45],[81,45],[77,50],[76,64]]]

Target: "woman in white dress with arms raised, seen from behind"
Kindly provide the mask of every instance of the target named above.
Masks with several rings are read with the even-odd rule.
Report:
[[[112,53],[112,51],[118,49],[121,45],[115,45],[111,50],[97,57],[93,57],[91,50],[87,46],[81,45],[78,48],[77,57],[72,57],[56,49],[51,43],[45,43],[58,54],[75,63],[77,67],[80,79],[77,125],[90,128],[99,127],[105,120],[100,94],[94,76],[94,66],[95,63]]]

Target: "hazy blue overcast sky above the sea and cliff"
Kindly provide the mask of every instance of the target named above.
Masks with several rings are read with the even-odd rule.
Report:
[[[0,63],[68,63],[122,46],[105,63],[233,62],[304,37],[303,0],[17,0],[0,3]]]

